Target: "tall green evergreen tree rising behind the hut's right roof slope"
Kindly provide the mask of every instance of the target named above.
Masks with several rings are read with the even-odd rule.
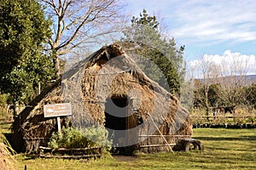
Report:
[[[162,37],[159,25],[156,16],[148,15],[143,9],[139,17],[132,17],[131,27],[124,31],[125,38],[122,42],[128,51],[129,48],[136,47],[137,54],[153,61],[154,65],[150,62],[143,63],[143,71],[148,77],[159,82],[172,94],[179,95],[185,73],[184,46],[177,48],[174,38]]]

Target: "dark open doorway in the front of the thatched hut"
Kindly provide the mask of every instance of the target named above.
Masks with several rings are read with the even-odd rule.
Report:
[[[133,151],[133,147],[127,146],[131,143],[131,135],[127,129],[131,127],[131,106],[127,97],[111,97],[105,104],[105,127],[108,129],[108,138],[113,140],[115,150],[119,154],[127,155]],[[129,153],[128,153],[129,152]]]

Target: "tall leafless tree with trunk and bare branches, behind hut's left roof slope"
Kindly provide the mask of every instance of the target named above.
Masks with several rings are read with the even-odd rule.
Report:
[[[60,56],[96,42],[97,37],[117,31],[122,6],[118,0],[39,0],[53,21],[53,36],[49,49],[58,77],[61,75]],[[113,29],[112,26],[115,26]]]

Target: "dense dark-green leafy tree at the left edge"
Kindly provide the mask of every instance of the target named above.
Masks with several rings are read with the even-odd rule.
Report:
[[[38,83],[51,79],[53,65],[44,54],[50,22],[34,0],[0,3],[0,90],[11,101],[27,102]]]

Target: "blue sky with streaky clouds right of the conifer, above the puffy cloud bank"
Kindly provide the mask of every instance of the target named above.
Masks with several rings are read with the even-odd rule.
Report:
[[[125,11],[136,15],[147,9],[162,20],[165,33],[185,45],[184,57],[240,54],[255,62],[256,1],[254,0],[124,0]],[[229,53],[227,53],[229,51]],[[255,69],[256,70],[256,69]]]

